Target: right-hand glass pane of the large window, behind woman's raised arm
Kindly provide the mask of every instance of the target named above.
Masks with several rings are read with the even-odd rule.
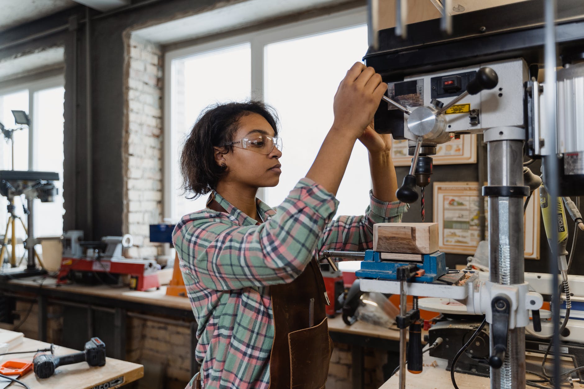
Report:
[[[276,206],[303,178],[333,122],[332,103],[346,71],[367,51],[367,26],[267,44],[264,49],[264,97],[281,119],[284,150],[276,187],[266,188]],[[316,66],[309,58],[321,58]],[[363,214],[371,178],[367,149],[357,141],[339,187],[339,215]]]

